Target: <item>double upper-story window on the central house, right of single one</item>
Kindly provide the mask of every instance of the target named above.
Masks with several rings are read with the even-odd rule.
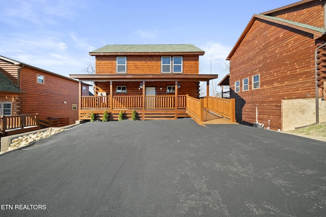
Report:
[[[162,56],[161,73],[182,73],[182,56]]]

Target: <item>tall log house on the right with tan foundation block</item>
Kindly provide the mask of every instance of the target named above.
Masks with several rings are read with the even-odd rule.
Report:
[[[324,118],[325,3],[304,0],[253,15],[227,57],[237,122],[287,131]]]

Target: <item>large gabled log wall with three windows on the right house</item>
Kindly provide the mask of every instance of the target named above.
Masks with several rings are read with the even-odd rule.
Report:
[[[258,122],[282,129],[281,100],[315,97],[312,35],[258,19],[231,58],[231,98],[236,99],[236,120]],[[260,75],[260,88],[252,89],[252,76]],[[249,90],[242,79],[249,78]],[[236,81],[240,91],[234,92]],[[293,108],[295,109],[295,108]]]

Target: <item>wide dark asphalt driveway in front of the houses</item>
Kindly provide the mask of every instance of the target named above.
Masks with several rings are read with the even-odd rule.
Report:
[[[0,156],[0,216],[325,216],[325,157],[241,125],[89,122]]]

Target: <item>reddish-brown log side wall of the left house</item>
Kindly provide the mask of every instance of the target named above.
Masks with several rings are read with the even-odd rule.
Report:
[[[44,76],[44,84],[37,83],[37,75]],[[20,70],[20,88],[26,92],[20,95],[22,114],[69,117],[70,124],[78,120],[78,110],[72,110],[72,104],[78,108],[78,82],[24,67]]]

